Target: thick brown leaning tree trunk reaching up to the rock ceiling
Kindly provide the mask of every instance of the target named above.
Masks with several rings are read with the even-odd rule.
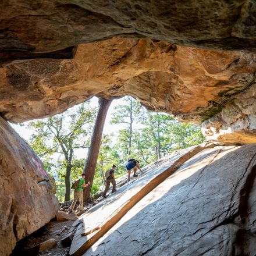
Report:
[[[106,119],[106,113],[108,113],[109,106],[112,99],[99,99],[99,110],[97,118],[94,123],[93,136],[91,137],[91,144],[88,150],[86,163],[84,163],[83,173],[86,175],[86,183],[90,182],[91,185],[84,189],[84,201],[91,201],[91,186],[93,186],[93,178],[95,168],[97,165],[97,159],[99,154],[99,147],[101,146],[102,131]]]

